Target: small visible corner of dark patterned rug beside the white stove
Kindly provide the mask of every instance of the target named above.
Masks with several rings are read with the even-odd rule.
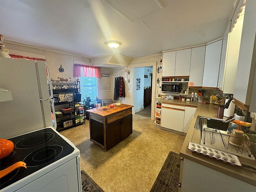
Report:
[[[81,171],[82,191],[87,192],[104,192],[84,170]]]

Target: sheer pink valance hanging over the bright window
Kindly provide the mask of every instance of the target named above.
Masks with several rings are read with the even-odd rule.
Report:
[[[100,67],[74,64],[73,77],[101,77]]]

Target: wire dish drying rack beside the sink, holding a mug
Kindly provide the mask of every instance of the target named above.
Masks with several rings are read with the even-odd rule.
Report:
[[[248,136],[244,139],[244,144],[231,144],[230,136],[227,131],[201,128],[201,144],[216,148],[237,156],[242,156],[251,160],[255,160],[256,154],[256,134],[254,134],[248,127],[241,126],[241,130]]]

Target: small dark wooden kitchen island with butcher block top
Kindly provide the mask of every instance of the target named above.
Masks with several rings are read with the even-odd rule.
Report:
[[[132,134],[132,105],[86,110],[89,113],[90,140],[109,150]]]

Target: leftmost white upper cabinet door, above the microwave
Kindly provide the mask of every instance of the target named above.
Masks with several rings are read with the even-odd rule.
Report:
[[[163,54],[163,68],[162,68],[163,77],[174,76],[175,60],[176,60],[176,51],[166,52]]]

